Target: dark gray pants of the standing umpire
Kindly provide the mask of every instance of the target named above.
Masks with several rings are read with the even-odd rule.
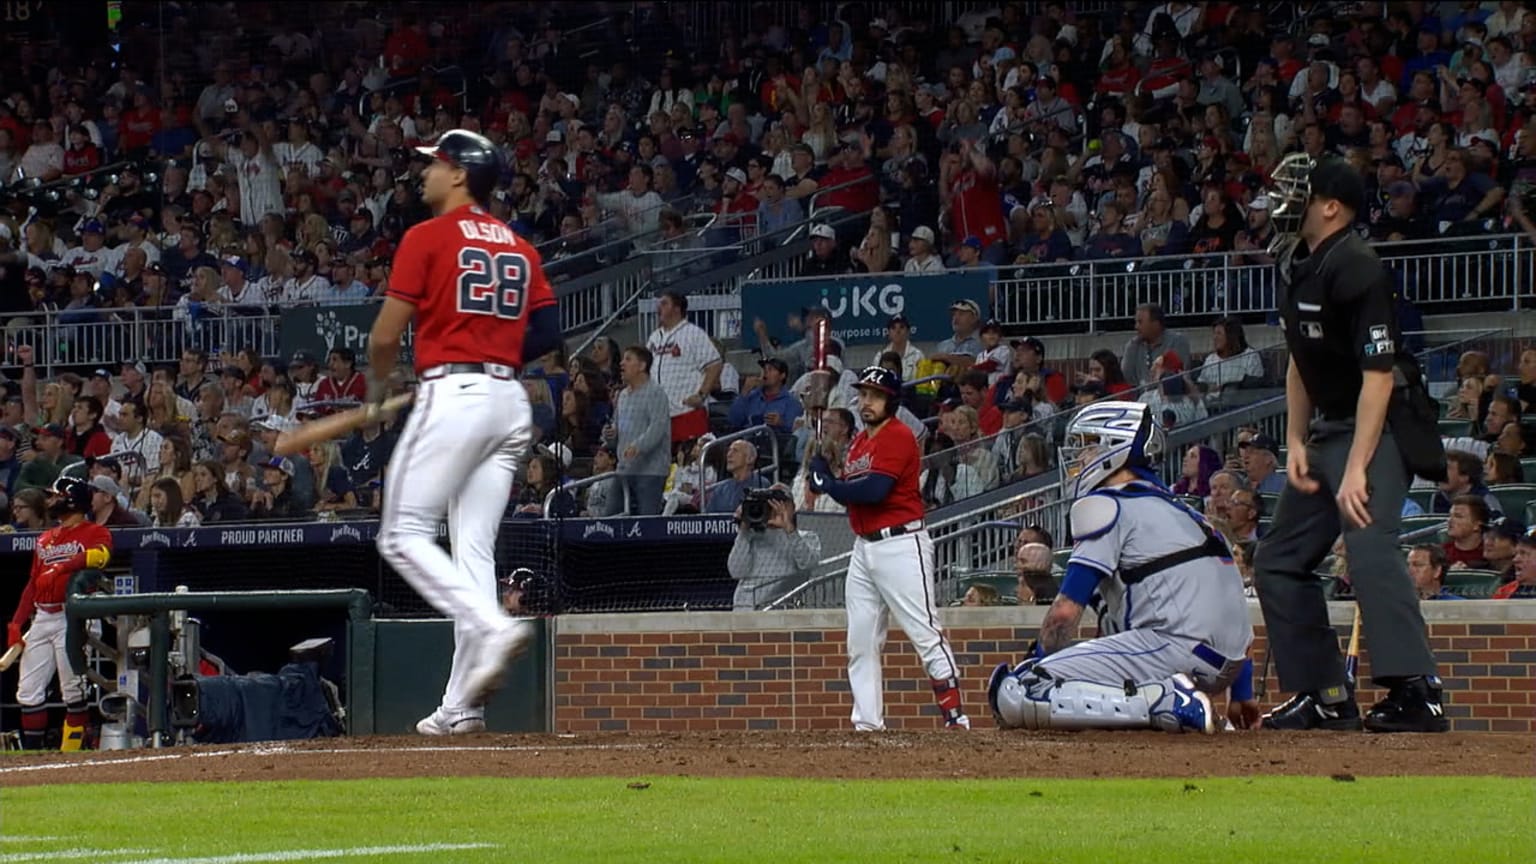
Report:
[[[1353,438],[1353,421],[1312,424],[1307,464],[1319,489],[1307,495],[1287,483],[1273,524],[1253,555],[1269,652],[1281,689],[1293,693],[1344,684],[1339,640],[1329,624],[1322,581],[1313,575],[1341,529],[1361,633],[1370,646],[1372,680],[1435,673],[1418,592],[1398,546],[1409,490],[1398,444],[1390,432],[1381,434],[1366,469],[1370,526],[1361,529],[1342,518],[1335,501]]]

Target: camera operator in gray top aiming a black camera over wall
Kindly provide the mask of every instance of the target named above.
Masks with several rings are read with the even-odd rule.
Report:
[[[794,523],[794,501],[783,484],[750,489],[736,507],[736,543],[727,569],[736,580],[733,610],[753,612],[811,577],[822,560],[822,538]]]

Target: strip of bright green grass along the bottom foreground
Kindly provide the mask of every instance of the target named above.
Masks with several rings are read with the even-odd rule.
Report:
[[[51,786],[0,790],[0,839],[57,838],[0,842],[0,861],[63,849],[146,850],[75,858],[118,862],[481,842],[495,849],[344,861],[1528,864],[1533,813],[1536,784],[1487,778]]]

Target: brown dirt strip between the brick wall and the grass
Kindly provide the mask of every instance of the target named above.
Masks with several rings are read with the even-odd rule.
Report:
[[[419,776],[1192,778],[1530,776],[1519,733],[743,732],[333,738],[17,753],[0,787]],[[3,855],[0,855],[3,861]]]

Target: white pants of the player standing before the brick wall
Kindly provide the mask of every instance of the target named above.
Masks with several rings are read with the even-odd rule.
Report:
[[[960,678],[954,653],[934,613],[934,541],[926,530],[886,540],[854,540],[843,589],[848,609],[848,687],[854,729],[885,729],[880,649],[889,618],[906,633],[928,676]]]

